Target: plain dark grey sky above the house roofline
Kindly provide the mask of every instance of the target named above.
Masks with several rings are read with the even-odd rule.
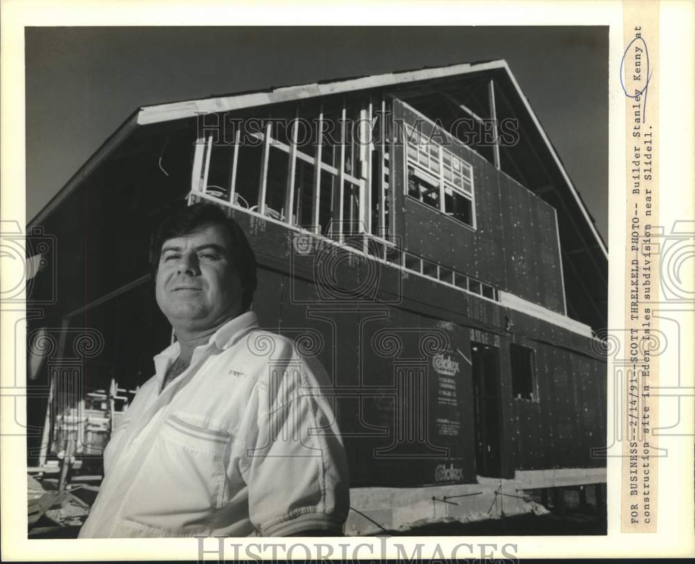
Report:
[[[503,58],[607,241],[607,27],[32,27],[25,46],[27,220],[139,106]]]

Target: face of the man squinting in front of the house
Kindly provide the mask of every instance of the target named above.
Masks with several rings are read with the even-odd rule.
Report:
[[[219,225],[164,241],[156,298],[174,330],[209,330],[241,313],[243,289],[232,261]]]

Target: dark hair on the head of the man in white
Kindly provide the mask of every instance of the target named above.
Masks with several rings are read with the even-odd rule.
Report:
[[[229,236],[231,261],[236,268],[244,289],[241,305],[249,309],[256,291],[256,255],[249,244],[243,229],[234,219],[213,204],[204,202],[175,209],[160,225],[152,245],[152,275],[156,277],[159,268],[162,245],[168,239],[195,234],[205,227],[219,225]]]

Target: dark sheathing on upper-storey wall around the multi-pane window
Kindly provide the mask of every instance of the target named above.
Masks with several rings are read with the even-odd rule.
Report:
[[[394,106],[400,108],[398,102]],[[405,115],[415,118],[407,110]],[[425,134],[431,131],[427,127]],[[407,250],[563,313],[553,209],[471,150],[448,148],[473,165],[477,229],[402,195],[398,161],[393,177],[404,200],[399,234]]]

